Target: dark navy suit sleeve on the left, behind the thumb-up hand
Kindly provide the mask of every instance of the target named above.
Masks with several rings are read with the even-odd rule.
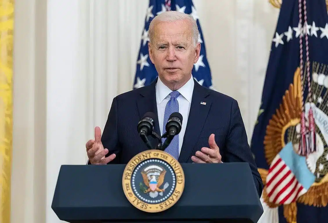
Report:
[[[108,153],[106,157],[109,155],[115,153],[116,157],[113,159],[112,162],[109,162],[108,164],[117,164],[120,160],[120,152],[121,149],[119,147],[118,143],[118,112],[117,112],[117,99],[116,97],[113,99],[111,109],[108,113],[107,121],[104,127],[104,130],[101,135],[101,142],[104,146],[104,149],[108,149]],[[88,164],[90,164],[90,161],[88,161]]]

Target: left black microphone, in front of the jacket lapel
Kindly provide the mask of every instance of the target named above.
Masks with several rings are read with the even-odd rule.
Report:
[[[142,119],[138,122],[138,126],[137,126],[137,130],[142,141],[146,143],[149,149],[153,149],[153,148],[147,136],[153,134],[155,117],[156,116],[153,112],[146,112],[142,117]]]

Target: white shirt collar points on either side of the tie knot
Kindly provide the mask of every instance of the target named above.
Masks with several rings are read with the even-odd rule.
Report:
[[[185,83],[180,89],[179,93],[189,102],[191,103],[191,99],[193,96],[194,91],[194,78],[193,75],[190,77],[190,79]],[[158,77],[157,83],[156,83],[156,101],[157,103],[161,103],[169,94],[172,92],[171,89],[169,89]]]

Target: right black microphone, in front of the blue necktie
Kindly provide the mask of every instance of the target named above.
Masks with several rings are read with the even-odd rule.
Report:
[[[162,138],[166,138],[162,147],[162,151],[171,143],[173,137],[180,133],[182,127],[182,115],[179,112],[174,112],[170,115],[169,120],[166,123],[166,132],[163,134]]]

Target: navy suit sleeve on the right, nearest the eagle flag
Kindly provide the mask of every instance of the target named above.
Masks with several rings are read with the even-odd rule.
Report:
[[[233,100],[231,106],[230,128],[226,145],[227,150],[223,160],[225,162],[248,162],[253,174],[257,193],[261,197],[263,182],[257,171],[256,163],[247,141],[245,126],[236,100]]]

